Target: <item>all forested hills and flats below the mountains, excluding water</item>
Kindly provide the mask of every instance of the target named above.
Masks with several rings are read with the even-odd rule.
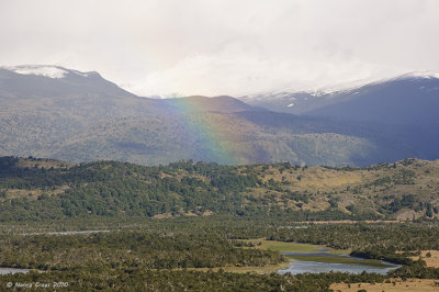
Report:
[[[33,271],[0,276],[0,287],[327,291],[339,282],[439,279],[439,269],[418,258],[421,250],[439,250],[438,169],[414,159],[307,168],[3,157],[0,267]],[[394,218],[404,221],[359,222]],[[314,223],[328,220],[354,222]],[[288,263],[281,252],[291,243],[402,268],[387,276],[272,273]]]

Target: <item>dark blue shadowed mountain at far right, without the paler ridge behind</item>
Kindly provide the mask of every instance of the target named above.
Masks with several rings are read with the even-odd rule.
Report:
[[[337,99],[306,114],[389,128],[416,149],[415,157],[439,157],[439,75],[408,74],[344,92]]]

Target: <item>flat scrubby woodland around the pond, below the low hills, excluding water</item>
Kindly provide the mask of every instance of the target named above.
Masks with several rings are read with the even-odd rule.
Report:
[[[66,231],[81,224],[71,221],[69,225],[69,222],[53,222],[46,231]],[[14,232],[11,232],[11,226],[15,227]],[[69,290],[78,291],[327,291],[331,283],[338,282],[381,283],[391,277],[439,279],[439,269],[412,259],[419,249],[439,250],[439,225],[435,223],[297,225],[277,220],[238,221],[236,217],[207,216],[144,218],[122,225],[109,222],[108,232],[90,234],[29,234],[30,229],[42,232],[43,227],[41,222],[1,226],[2,266],[45,272],[1,276],[0,287],[8,282],[68,282]],[[282,240],[284,244],[261,238]],[[285,251],[285,245],[293,242],[342,246],[351,250],[351,255],[363,252],[362,256],[372,259],[405,262],[403,268],[389,276],[236,274],[225,271],[233,268],[239,270],[239,267],[247,270],[254,267],[255,271],[260,271],[259,267],[280,263],[285,259],[279,251]],[[316,246],[299,245],[297,248],[303,252],[318,250]],[[381,254],[367,254],[368,250]]]

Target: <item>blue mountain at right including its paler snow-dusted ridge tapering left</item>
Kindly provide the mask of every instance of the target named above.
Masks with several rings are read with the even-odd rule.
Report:
[[[439,74],[413,72],[334,92],[275,93],[246,98],[254,105],[367,128],[365,137],[396,157],[439,158]],[[359,132],[356,132],[358,136]],[[391,156],[383,160],[394,160]]]

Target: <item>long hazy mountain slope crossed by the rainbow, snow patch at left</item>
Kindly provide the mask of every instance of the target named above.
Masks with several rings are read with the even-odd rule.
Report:
[[[0,155],[67,161],[370,165],[423,151],[392,131],[275,113],[230,97],[136,97],[97,72],[0,69]]]

